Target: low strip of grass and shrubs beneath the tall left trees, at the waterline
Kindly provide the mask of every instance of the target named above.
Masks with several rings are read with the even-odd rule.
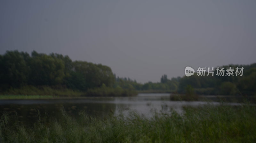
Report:
[[[134,96],[135,90],[111,88],[102,86],[100,88],[78,91],[67,88],[52,88],[49,86],[23,86],[11,88],[0,92],[0,99],[39,99],[52,97],[112,97],[112,96]],[[48,95],[48,96],[45,96]]]

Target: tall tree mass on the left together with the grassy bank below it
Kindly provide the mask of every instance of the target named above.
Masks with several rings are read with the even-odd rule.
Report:
[[[115,77],[108,66],[72,61],[67,55],[6,51],[0,55],[0,65],[0,90],[3,94],[137,94],[131,89],[114,88]]]

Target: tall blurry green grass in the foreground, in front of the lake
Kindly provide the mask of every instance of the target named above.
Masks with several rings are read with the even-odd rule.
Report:
[[[4,115],[0,122],[0,142],[255,142],[255,106],[186,107],[184,114],[155,113],[145,118],[136,113],[105,119],[72,118],[63,112],[64,120],[38,120],[26,127]]]

